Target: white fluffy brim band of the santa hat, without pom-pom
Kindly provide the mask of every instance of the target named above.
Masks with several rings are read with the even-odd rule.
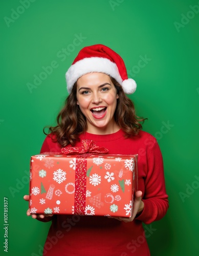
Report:
[[[122,78],[116,63],[106,58],[91,57],[77,61],[65,74],[68,92],[71,93],[74,83],[78,80],[78,78],[91,72],[101,72],[110,75],[122,86]]]

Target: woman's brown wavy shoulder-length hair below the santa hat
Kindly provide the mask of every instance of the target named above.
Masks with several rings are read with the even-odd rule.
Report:
[[[125,137],[135,136],[142,129],[141,122],[144,122],[146,118],[136,115],[134,103],[125,95],[121,85],[113,77],[110,79],[119,96],[114,114],[115,121],[125,132]],[[48,134],[56,135],[56,141],[63,147],[68,144],[74,146],[76,141],[79,141],[79,135],[87,130],[86,118],[77,105],[76,92],[77,83],[74,84],[71,94],[65,100],[65,104],[57,116],[57,125],[46,126],[43,129],[46,135],[46,128],[49,129]]]

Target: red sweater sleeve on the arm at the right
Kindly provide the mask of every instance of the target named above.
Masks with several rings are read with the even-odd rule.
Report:
[[[168,196],[165,188],[162,154],[156,140],[147,157],[145,193],[142,201],[144,202],[144,209],[136,217],[136,220],[150,224],[165,216],[168,209]]]

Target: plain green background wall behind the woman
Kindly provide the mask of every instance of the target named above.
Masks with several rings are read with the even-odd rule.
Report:
[[[190,5],[196,5],[195,12]],[[1,255],[41,255],[50,223],[26,216],[30,156],[39,153],[42,129],[55,124],[67,96],[65,72],[79,50],[93,44],[107,45],[124,59],[138,84],[130,98],[137,114],[148,118],[143,130],[162,150],[170,206],[151,224],[151,255],[198,255],[198,12],[194,0],[1,2]],[[77,35],[82,39],[74,46]],[[68,55],[60,57],[62,48]],[[142,57],[148,59],[145,65]],[[53,60],[56,68],[29,90],[27,83],[34,84],[34,75]],[[4,197],[9,201],[7,254]]]

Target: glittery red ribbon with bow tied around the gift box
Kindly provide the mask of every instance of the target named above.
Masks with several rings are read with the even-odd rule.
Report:
[[[76,158],[75,169],[75,199],[74,199],[74,214],[85,214],[86,201],[86,171],[87,161],[86,157],[92,154],[106,154],[107,148],[99,147],[93,140],[82,140],[80,147],[63,147],[61,148],[63,154],[78,154]]]

